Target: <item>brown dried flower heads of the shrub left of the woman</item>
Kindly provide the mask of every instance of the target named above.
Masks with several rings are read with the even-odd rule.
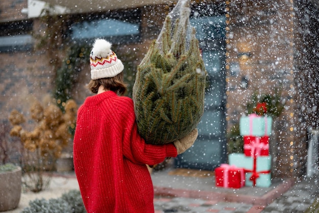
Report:
[[[36,122],[32,131],[26,131],[20,124],[25,122],[24,116],[13,110],[9,120],[13,125],[10,131],[11,136],[19,137],[24,148],[34,152],[39,149],[41,156],[52,153],[60,157],[62,148],[67,146],[71,134],[70,126],[75,126],[77,105],[74,100],[66,102],[66,111],[63,114],[55,104],[49,104],[43,108],[40,102],[36,101],[31,109],[31,118]]]

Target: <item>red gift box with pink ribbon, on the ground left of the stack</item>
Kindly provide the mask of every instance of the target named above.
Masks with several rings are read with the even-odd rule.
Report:
[[[245,173],[243,168],[221,164],[215,169],[216,186],[239,189],[245,185]]]

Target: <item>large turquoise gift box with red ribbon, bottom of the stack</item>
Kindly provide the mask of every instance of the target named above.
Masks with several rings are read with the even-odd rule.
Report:
[[[256,176],[256,187],[270,187],[271,181],[271,156],[257,156],[256,157],[256,172],[254,169],[254,157],[247,157],[243,153],[232,153],[228,155],[229,165],[244,168],[245,171],[245,185],[253,186],[253,181],[250,180],[253,174]]]

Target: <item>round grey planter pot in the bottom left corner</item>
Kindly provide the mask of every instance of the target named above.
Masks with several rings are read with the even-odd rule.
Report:
[[[21,196],[21,167],[0,173],[0,211],[18,206]]]

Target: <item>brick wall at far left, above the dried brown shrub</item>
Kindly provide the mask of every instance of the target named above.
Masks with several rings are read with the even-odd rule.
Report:
[[[10,52],[0,54],[0,119],[8,119],[11,110],[28,114],[35,98],[50,93],[54,72],[43,54]]]

